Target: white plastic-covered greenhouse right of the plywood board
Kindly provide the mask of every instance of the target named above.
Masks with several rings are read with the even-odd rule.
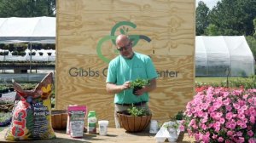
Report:
[[[254,62],[244,36],[195,37],[196,77],[249,77]]]

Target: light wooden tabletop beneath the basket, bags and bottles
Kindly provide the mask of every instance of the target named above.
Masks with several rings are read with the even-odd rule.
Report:
[[[1,128],[0,131],[0,142],[9,142],[4,140],[4,135],[7,132],[8,128]],[[135,143],[151,143],[156,142],[154,140],[155,134],[149,134],[147,132],[142,133],[127,133],[125,129],[115,129],[115,128],[108,128],[108,135],[102,136],[99,134],[88,134],[84,133],[83,138],[74,139],[71,138],[69,134],[65,134],[65,130],[55,130],[55,134],[57,139],[54,140],[26,140],[26,141],[19,141],[19,142],[35,142],[35,143],[109,143],[109,142],[135,142]],[[189,138],[188,134],[184,134],[183,143],[195,142],[193,138]]]

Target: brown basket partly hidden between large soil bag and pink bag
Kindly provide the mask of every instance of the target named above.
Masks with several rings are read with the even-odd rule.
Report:
[[[67,129],[67,110],[51,111],[51,125],[53,129]]]

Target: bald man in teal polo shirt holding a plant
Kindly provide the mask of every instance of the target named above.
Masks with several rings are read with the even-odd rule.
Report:
[[[127,110],[132,104],[148,109],[148,92],[156,88],[157,72],[152,60],[145,54],[132,50],[132,43],[128,36],[119,35],[116,38],[119,56],[110,61],[106,89],[114,96],[114,119],[116,128],[120,127],[116,112]],[[131,81],[137,78],[148,80],[148,86],[132,94]],[[148,109],[149,110],[149,109]]]

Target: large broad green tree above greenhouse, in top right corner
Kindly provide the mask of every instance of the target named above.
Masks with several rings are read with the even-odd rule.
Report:
[[[253,35],[255,0],[222,0],[209,14],[220,35]]]

